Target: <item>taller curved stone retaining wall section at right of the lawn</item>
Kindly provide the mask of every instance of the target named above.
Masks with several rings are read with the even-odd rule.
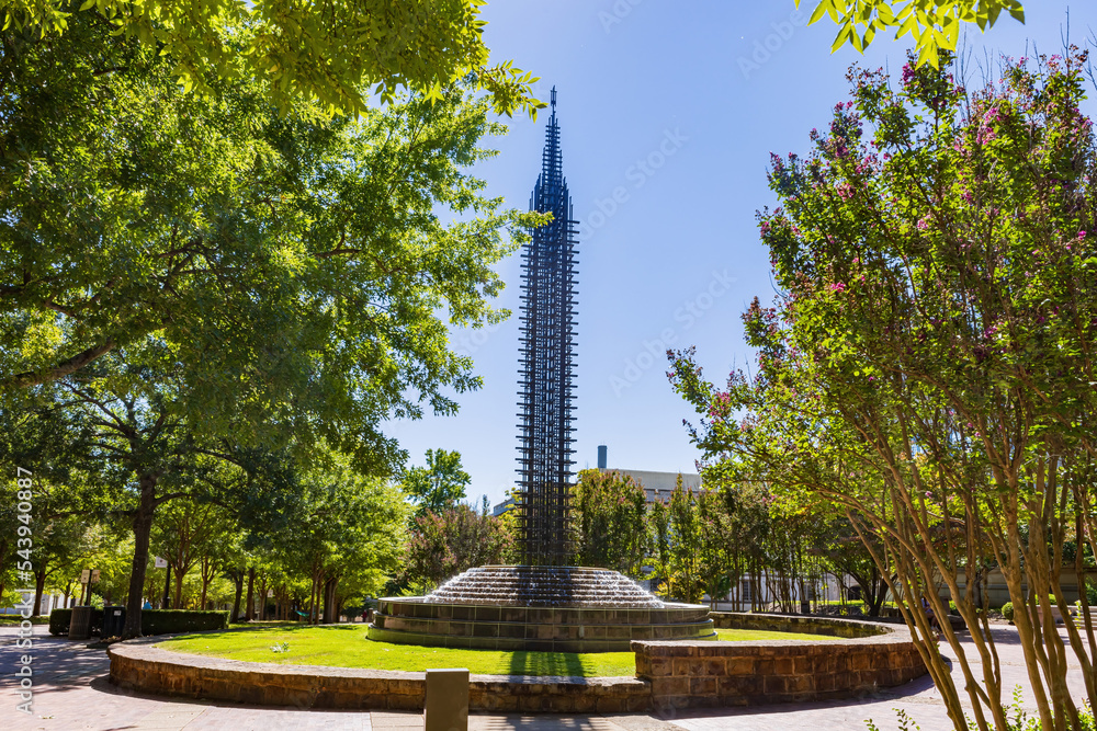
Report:
[[[927,670],[906,627],[713,613],[716,627],[811,631],[833,640],[633,642],[656,709],[842,698],[902,685]]]

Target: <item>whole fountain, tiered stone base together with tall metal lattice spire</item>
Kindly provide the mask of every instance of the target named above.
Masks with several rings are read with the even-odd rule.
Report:
[[[378,602],[373,640],[455,648],[599,652],[632,640],[715,639],[709,608],[663,602],[617,571],[567,566],[575,439],[575,249],[556,89],[530,207],[553,220],[522,252],[522,432],[517,504],[522,566],[470,569],[427,596]]]

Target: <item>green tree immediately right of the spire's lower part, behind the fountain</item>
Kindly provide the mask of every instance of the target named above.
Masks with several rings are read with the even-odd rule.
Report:
[[[580,470],[572,488],[572,522],[579,566],[642,575],[651,547],[641,483],[618,471]]]

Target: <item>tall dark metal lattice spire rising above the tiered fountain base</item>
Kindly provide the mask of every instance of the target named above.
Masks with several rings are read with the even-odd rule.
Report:
[[[530,209],[553,220],[530,231],[522,252],[518,518],[527,566],[566,566],[569,482],[575,443],[576,225],[563,173],[556,89],[545,130],[541,176]]]

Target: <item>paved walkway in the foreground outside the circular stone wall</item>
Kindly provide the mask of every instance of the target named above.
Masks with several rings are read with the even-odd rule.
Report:
[[[120,690],[106,678],[110,663],[102,650],[49,637],[35,627],[34,713],[15,709],[13,671],[25,651],[14,647],[14,628],[0,629],[0,731],[397,731],[422,729],[418,713],[393,711],[323,711],[256,708],[222,703],[159,698]],[[1028,685],[1017,633],[1011,627],[995,629],[1006,675],[1006,687]],[[948,652],[946,654],[949,654]],[[959,675],[959,670],[957,671]],[[1068,674],[1072,693],[1079,700],[1085,686],[1077,663]],[[1026,705],[1031,708],[1032,698]],[[818,704],[792,704],[719,711],[683,711],[665,718],[633,716],[487,716],[474,715],[476,731],[521,729],[550,731],[768,731],[817,729],[864,731],[873,719],[881,731],[898,728],[893,709],[901,708],[921,731],[952,728],[928,677],[891,688],[873,697]],[[912,729],[913,731],[913,729]]]

